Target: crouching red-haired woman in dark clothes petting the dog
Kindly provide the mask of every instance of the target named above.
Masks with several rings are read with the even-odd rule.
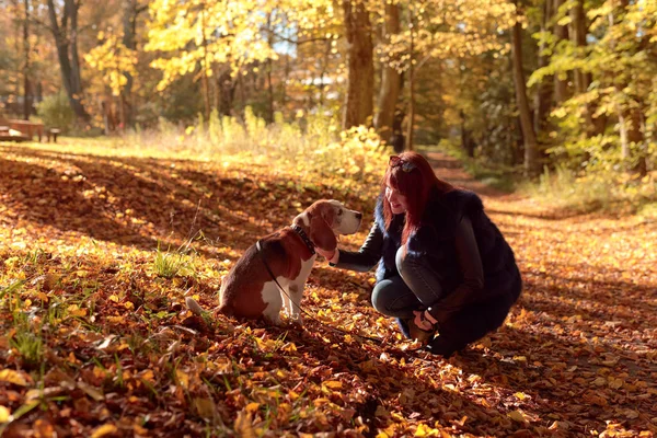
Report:
[[[323,254],[367,272],[372,304],[407,337],[451,356],[499,327],[522,288],[514,252],[472,192],[439,180],[424,157],[390,158],[374,223],[358,252]],[[437,333],[436,336],[434,336]]]

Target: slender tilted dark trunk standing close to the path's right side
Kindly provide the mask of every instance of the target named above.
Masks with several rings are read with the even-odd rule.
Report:
[[[516,2],[517,5],[517,2]],[[527,87],[525,71],[522,70],[522,25],[516,23],[511,33],[511,56],[514,59],[514,82],[516,83],[516,103],[520,113],[520,125],[525,139],[525,173],[527,176],[535,176],[539,173],[539,148],[533,130],[529,101],[527,100]]]

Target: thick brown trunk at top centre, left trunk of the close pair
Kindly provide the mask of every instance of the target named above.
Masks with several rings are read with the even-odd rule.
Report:
[[[364,125],[372,115],[374,62],[369,12],[361,2],[343,0],[348,42],[348,85],[343,128]]]

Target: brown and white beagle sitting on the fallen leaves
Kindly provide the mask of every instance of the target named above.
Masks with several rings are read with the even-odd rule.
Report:
[[[264,318],[280,325],[280,309],[302,324],[300,303],[303,287],[316,258],[315,247],[332,252],[336,234],[358,231],[362,214],[337,200],[318,200],[285,227],[251,245],[221,281],[216,312],[247,319]],[[274,280],[278,281],[279,286]],[[193,313],[203,309],[191,297]]]

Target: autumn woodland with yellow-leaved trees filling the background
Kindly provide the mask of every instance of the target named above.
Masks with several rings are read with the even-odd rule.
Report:
[[[366,125],[407,148],[451,146],[484,176],[592,185],[593,207],[654,194],[655,0],[0,8],[5,116],[77,135],[166,131],[169,142],[215,132],[207,148],[249,117],[325,139]]]

